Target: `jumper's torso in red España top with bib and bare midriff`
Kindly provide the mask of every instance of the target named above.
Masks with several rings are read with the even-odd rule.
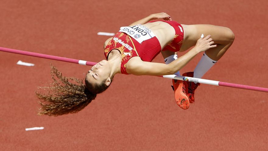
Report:
[[[168,23],[157,21],[143,25],[121,27],[120,31],[108,42],[104,55],[117,49],[122,55],[121,73],[128,74],[126,64],[133,57],[151,62],[175,36],[175,30]]]

